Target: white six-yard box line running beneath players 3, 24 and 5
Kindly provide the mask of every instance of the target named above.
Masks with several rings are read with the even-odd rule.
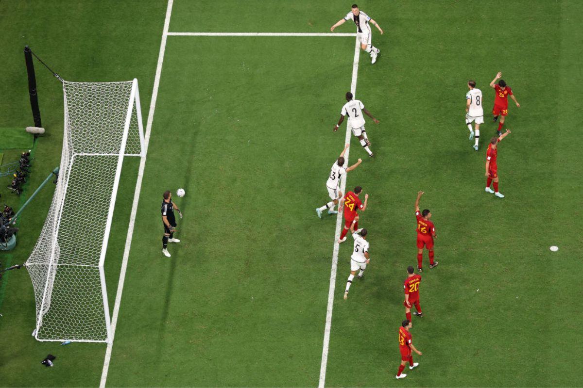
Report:
[[[354,47],[354,61],[352,62],[352,82],[350,83],[350,92],[356,98],[356,80],[359,76],[359,58],[360,58],[360,42],[357,39]],[[346,138],[345,144],[350,144],[350,120],[346,123]],[[346,165],[348,165],[348,156],[350,152],[350,147],[346,150],[344,158],[346,159]],[[346,180],[348,175],[345,175],[344,180],[340,183],[340,191],[346,194]],[[343,227],[342,223],[342,212],[340,212],[340,207],[342,207],[342,202],[338,204],[338,218],[336,218],[336,233],[334,234],[334,249],[332,251],[332,269],[330,272],[330,288],[328,291],[328,309],[326,310],[326,326],[324,328],[324,345],[322,346],[322,364],[320,365],[320,380],[318,383],[319,388],[324,388],[326,382],[326,365],[328,364],[328,347],[330,344],[330,329],[332,327],[332,308],[334,305],[334,289],[336,287],[336,270],[338,270],[338,248],[340,244],[338,239],[340,238],[340,230]]]

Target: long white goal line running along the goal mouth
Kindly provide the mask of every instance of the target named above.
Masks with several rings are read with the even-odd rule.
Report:
[[[147,116],[146,134],[144,138],[143,156],[140,159],[140,166],[138,170],[138,180],[136,181],[136,188],[134,191],[134,202],[132,203],[132,212],[129,216],[128,234],[125,239],[124,258],[121,264],[120,282],[117,286],[117,294],[115,295],[115,305],[113,308],[113,316],[111,318],[111,339],[107,343],[106,357],[103,361],[103,371],[101,372],[100,388],[106,386],[107,372],[111,359],[111,348],[113,347],[113,340],[115,336],[115,326],[117,325],[118,312],[120,311],[121,293],[124,290],[125,271],[128,268],[129,250],[132,245],[132,236],[134,235],[134,225],[136,221],[136,212],[138,211],[138,201],[140,192],[142,190],[142,179],[144,168],[146,166],[147,146],[150,141],[150,133],[152,132],[152,122],[154,119],[154,110],[156,109],[156,99],[158,97],[158,87],[160,86],[160,74],[162,72],[162,62],[164,61],[164,51],[166,51],[166,39],[168,34],[168,27],[170,26],[170,15],[172,13],[173,0],[168,0],[166,8],[166,19],[164,20],[164,30],[162,33],[162,41],[160,42],[160,54],[158,55],[158,65],[156,66],[156,77],[154,77],[154,88],[152,91],[152,100],[150,101],[150,109]]]

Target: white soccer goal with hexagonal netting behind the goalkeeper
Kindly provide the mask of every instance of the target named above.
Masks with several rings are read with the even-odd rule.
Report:
[[[63,82],[61,168],[40,237],[26,261],[39,341],[107,342],[103,270],[124,156],[143,156],[138,80]]]

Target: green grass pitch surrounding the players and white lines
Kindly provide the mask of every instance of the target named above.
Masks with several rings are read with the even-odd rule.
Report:
[[[371,65],[361,53],[356,86],[380,120],[367,120],[377,157],[352,137],[350,163],[364,160],[347,175],[370,194],[360,224],[373,261],[344,301],[350,239],[340,246],[326,386],[581,386],[583,3],[358,3],[385,31],[373,27],[381,55]],[[169,31],[325,33],[350,4],[175,0]],[[137,78],[146,123],[166,7],[0,2],[0,126],[31,124],[25,44],[66,80]],[[168,37],[107,386],[318,385],[336,218],[314,209],[343,148],[345,127],[332,127],[353,56],[352,37]],[[47,135],[25,196],[62,142],[62,88],[35,66]],[[521,103],[498,152],[502,200],[483,191],[498,71]],[[463,122],[468,79],[484,95],[479,152]],[[112,309],[137,171],[126,158],[106,259]],[[167,259],[161,193],[179,187],[182,242]],[[413,318],[420,367],[395,380],[418,190],[440,265],[423,272],[426,317]],[[26,198],[0,194],[16,208]],[[2,266],[26,261],[51,198],[47,186],[24,212]],[[8,273],[0,386],[98,386],[105,344],[35,341],[34,312],[26,270]],[[54,368],[40,365],[47,353]]]

